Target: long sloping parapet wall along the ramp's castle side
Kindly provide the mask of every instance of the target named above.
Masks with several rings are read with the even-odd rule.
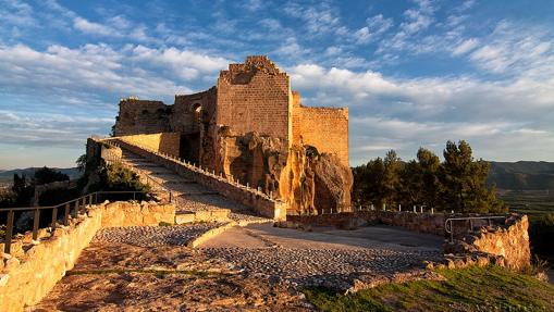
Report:
[[[118,139],[118,143],[124,149],[127,149],[155,163],[165,166],[180,176],[192,179],[214,191],[218,191],[226,198],[250,207],[263,216],[278,221],[286,219],[286,203],[281,200],[271,199],[267,195],[258,192],[253,188],[247,188],[243,185],[230,182],[224,177],[213,175],[199,167],[180,162],[178,160],[169,155],[134,146],[132,142],[126,142],[124,140]]]

